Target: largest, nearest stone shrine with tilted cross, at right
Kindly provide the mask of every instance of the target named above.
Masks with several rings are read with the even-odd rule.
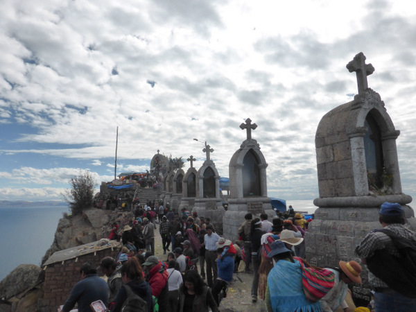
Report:
[[[406,223],[415,228],[412,198],[401,191],[395,129],[378,93],[367,86],[372,64],[359,53],[347,64],[355,71],[354,100],[325,114],[315,135],[319,198],[315,219],[305,234],[306,259],[311,265],[338,266],[356,260],[354,250],[372,229],[380,228],[379,207],[398,202]],[[367,270],[361,275],[367,280]]]

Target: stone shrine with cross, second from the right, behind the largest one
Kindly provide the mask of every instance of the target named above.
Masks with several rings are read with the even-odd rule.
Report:
[[[223,218],[224,236],[233,241],[238,239],[237,230],[248,212],[253,214],[253,218],[263,212],[270,216],[270,220],[276,216],[267,196],[268,164],[251,135],[251,130],[257,125],[246,119],[240,128],[247,130],[247,139],[229,161],[229,205]]]

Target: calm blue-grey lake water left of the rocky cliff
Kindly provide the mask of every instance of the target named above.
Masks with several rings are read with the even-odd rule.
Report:
[[[20,264],[40,266],[67,207],[0,208],[0,281]]]

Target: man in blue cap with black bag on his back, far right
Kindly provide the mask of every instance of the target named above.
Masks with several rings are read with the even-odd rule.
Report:
[[[399,251],[406,244],[415,252],[416,233],[404,225],[404,209],[398,203],[381,205],[379,223],[382,229],[367,234],[355,250],[370,271],[376,311],[416,311],[415,268],[406,262],[406,251]]]

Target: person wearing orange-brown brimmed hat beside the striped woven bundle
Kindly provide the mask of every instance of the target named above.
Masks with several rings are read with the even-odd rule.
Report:
[[[361,284],[361,266],[356,261],[340,261],[339,268],[326,268],[333,272],[335,283],[331,291],[324,295],[319,301],[322,311],[333,312],[340,306],[345,312],[348,312],[348,304],[345,298],[348,294],[349,284]]]

